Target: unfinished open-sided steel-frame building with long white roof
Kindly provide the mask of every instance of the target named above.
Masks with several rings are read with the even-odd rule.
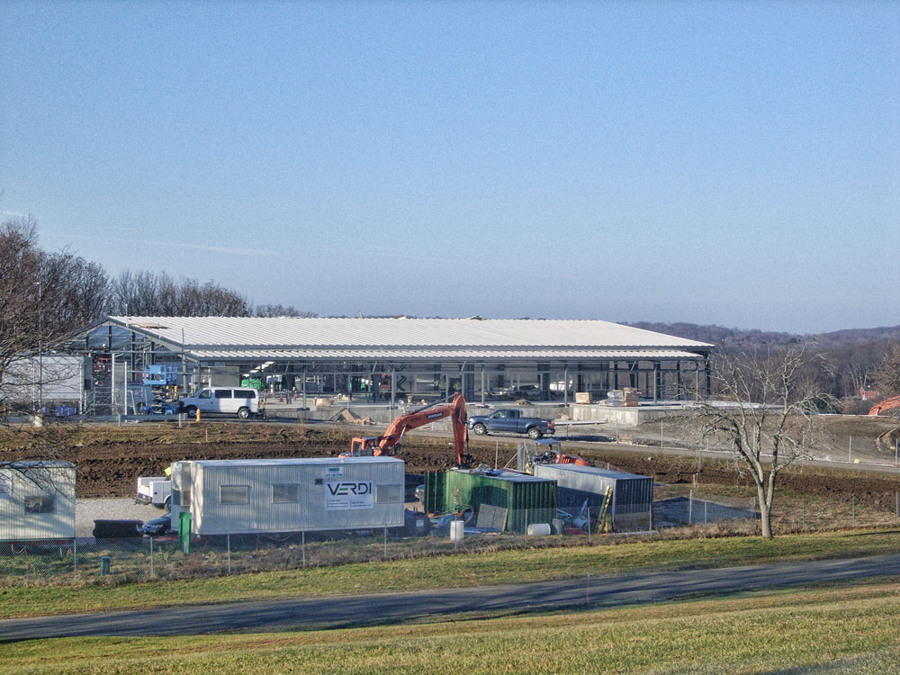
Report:
[[[136,387],[207,385],[396,405],[594,400],[632,387],[653,401],[709,391],[713,346],[601,320],[107,317],[69,352],[89,356],[93,404],[115,412]],[[106,401],[109,401],[108,405]]]

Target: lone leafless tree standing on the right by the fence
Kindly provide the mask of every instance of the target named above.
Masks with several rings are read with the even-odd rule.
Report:
[[[718,356],[713,395],[719,401],[701,401],[690,416],[700,443],[724,440],[739,470],[750,474],[767,538],[779,473],[810,456],[813,415],[823,398],[808,388],[805,377],[814,359],[808,345]]]

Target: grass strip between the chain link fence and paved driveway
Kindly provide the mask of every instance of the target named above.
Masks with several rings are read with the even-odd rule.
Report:
[[[627,541],[444,555],[433,558],[257,572],[121,585],[0,587],[0,617],[25,617],[291,596],[425,590],[543,581],[632,570],[675,570],[893,554],[900,530],[718,539]]]

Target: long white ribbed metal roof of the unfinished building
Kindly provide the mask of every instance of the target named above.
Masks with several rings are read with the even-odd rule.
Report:
[[[602,320],[526,319],[307,319],[296,317],[109,317],[123,328],[133,329],[169,345],[184,347],[192,354],[236,351],[271,354],[274,350],[340,352],[407,348],[447,356],[454,348],[461,353],[505,349],[513,356],[534,350],[541,357],[548,351],[589,349],[619,351],[646,349],[706,351],[705,342],[675,338],[652,330]],[[255,349],[254,349],[255,348]],[[224,354],[222,354],[224,356]],[[312,356],[312,355],[311,355]],[[424,354],[423,354],[424,356]],[[690,356],[690,355],[689,355]]]

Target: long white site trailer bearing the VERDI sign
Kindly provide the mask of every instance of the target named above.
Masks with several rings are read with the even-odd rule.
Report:
[[[394,457],[172,464],[172,522],[192,535],[403,527],[406,464]]]

